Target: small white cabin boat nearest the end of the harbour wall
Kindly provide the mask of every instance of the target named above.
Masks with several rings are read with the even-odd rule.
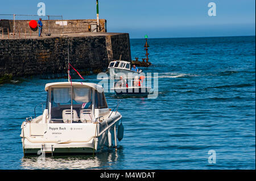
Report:
[[[131,63],[128,61],[112,61],[109,63],[110,79],[119,78],[121,75],[126,78],[133,78],[142,73],[142,70],[131,70]]]

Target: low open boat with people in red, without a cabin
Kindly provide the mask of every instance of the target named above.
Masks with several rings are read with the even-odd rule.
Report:
[[[147,96],[150,94],[151,87],[145,86],[143,79],[143,76],[119,79],[119,81],[114,82],[111,90],[114,90],[118,96]]]

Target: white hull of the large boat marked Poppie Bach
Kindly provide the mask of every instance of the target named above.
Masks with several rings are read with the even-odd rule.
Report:
[[[108,123],[51,123],[39,124],[46,127],[42,135],[40,131],[31,131],[36,123],[23,122],[22,146],[24,155],[52,155],[93,154],[113,148],[114,127],[118,127],[121,115],[114,115]],[[61,128],[61,129],[60,129]],[[35,129],[35,128],[34,128]],[[23,132],[24,131],[24,132]],[[108,132],[111,134],[112,144],[109,145]]]

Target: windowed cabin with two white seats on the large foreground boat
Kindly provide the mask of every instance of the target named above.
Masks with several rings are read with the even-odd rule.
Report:
[[[93,123],[109,116],[104,90],[95,83],[47,83],[46,123]]]

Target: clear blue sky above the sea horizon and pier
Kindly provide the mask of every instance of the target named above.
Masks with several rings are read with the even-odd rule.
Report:
[[[37,14],[39,2],[47,15],[96,18],[96,0],[3,1],[0,14]],[[216,3],[217,16],[208,16],[209,2]],[[255,35],[255,0],[99,0],[99,6],[108,32],[128,32],[131,38]]]

